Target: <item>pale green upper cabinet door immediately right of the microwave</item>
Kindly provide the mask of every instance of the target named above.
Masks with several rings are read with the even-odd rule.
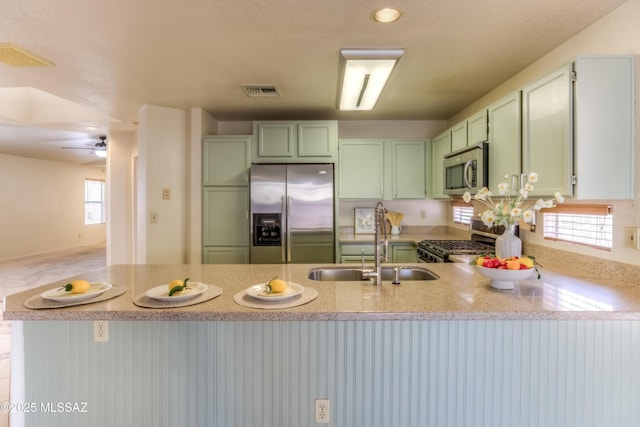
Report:
[[[489,188],[522,173],[521,93],[491,104],[489,111]]]

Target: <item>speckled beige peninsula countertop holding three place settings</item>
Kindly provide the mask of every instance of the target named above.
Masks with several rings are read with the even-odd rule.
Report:
[[[326,265],[326,264],[323,264]],[[406,264],[404,264],[406,265]],[[32,310],[23,303],[33,295],[66,284],[71,278],[5,298],[5,320],[614,320],[640,319],[640,287],[571,277],[541,269],[510,291],[489,287],[488,279],[464,263],[419,264],[438,280],[383,282],[319,282],[307,278],[318,264],[251,265],[113,265],[78,276],[127,289],[123,295],[93,304]],[[349,267],[336,264],[337,267]],[[238,305],[234,294],[273,276],[312,287],[318,297],[287,309],[255,309]],[[149,309],[133,303],[135,295],[176,278],[190,277],[222,288],[222,295],[188,307]]]

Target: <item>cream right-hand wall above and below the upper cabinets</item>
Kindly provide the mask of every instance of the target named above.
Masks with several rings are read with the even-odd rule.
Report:
[[[479,109],[489,105],[491,102],[522,88],[545,74],[554,71],[564,64],[571,62],[578,55],[605,55],[605,54],[640,54],[640,30],[638,30],[638,17],[640,16],[640,1],[630,0],[614,10],[612,13],[591,25],[580,34],[576,35],[566,43],[549,52],[520,73],[513,76],[501,86],[489,92],[464,110],[451,117],[449,125],[453,125],[465,117],[473,114]],[[640,65],[636,60],[636,92],[640,87],[638,75]],[[636,96],[636,122],[640,119],[640,103]],[[542,233],[529,233],[524,231],[524,240],[543,246],[557,249],[569,250],[585,255],[610,259],[629,264],[640,265],[640,252],[625,247],[624,227],[640,227],[640,213],[638,204],[640,203],[640,126],[636,125],[636,150],[635,150],[635,188],[636,196],[634,200],[600,200],[590,201],[593,203],[610,204],[613,206],[613,250],[611,252],[588,248],[585,246],[552,242],[543,239]],[[570,203],[571,201],[567,201]],[[453,224],[450,224],[453,225]],[[540,225],[540,224],[539,224]],[[538,227],[540,230],[541,228]]]

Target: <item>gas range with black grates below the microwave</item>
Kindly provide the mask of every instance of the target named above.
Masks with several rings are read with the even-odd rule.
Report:
[[[451,262],[451,255],[482,255],[492,253],[496,238],[504,227],[487,227],[480,220],[472,220],[471,240],[422,240],[418,243],[418,258],[422,262]]]

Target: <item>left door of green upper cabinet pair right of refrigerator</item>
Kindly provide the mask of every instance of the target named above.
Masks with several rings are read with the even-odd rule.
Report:
[[[340,141],[339,186],[342,199],[380,199],[384,196],[384,143]]]

